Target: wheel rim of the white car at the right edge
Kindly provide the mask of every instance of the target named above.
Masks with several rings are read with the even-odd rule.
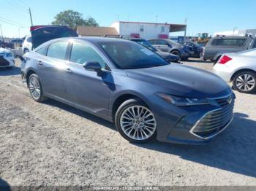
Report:
[[[242,91],[250,91],[255,87],[255,78],[250,74],[241,74],[236,78],[236,87]]]

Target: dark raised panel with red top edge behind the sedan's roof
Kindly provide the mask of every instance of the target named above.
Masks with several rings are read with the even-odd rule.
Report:
[[[75,37],[78,34],[67,26],[31,26],[32,49],[44,42],[62,37]]]

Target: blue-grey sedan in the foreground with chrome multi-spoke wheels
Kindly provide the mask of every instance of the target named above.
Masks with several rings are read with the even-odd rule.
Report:
[[[203,144],[233,119],[235,95],[220,77],[171,64],[135,42],[61,38],[24,56],[34,101],[53,98],[115,122],[128,141]]]

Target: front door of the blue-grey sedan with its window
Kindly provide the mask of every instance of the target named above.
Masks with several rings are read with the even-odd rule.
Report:
[[[102,66],[102,74],[84,69],[86,61],[97,61]],[[68,68],[70,71],[64,80],[68,100],[89,112],[107,114],[114,86],[111,71],[105,70],[105,60],[89,44],[73,42]]]

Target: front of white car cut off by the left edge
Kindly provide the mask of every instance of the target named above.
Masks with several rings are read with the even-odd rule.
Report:
[[[0,68],[12,68],[15,58],[10,50],[0,47]]]

